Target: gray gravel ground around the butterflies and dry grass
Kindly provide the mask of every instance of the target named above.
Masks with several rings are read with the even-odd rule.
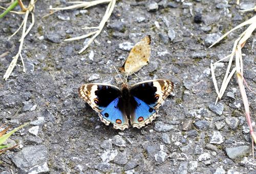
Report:
[[[118,1],[108,24],[82,54],[84,40],[63,39],[84,34],[82,27],[97,26],[106,5],[87,10],[46,10],[66,1],[37,1],[35,26],[26,37],[22,55],[11,77],[0,80],[0,120],[13,127],[31,124],[9,142],[18,147],[0,157],[7,173],[256,173],[243,102],[235,78],[223,99],[217,97],[209,64],[230,54],[242,29],[208,49],[222,34],[252,17],[254,0],[241,1]],[[0,3],[5,6],[4,3]],[[16,9],[18,10],[18,9]],[[0,23],[0,74],[3,77],[17,53],[20,33],[10,36],[22,16],[8,14]],[[120,85],[112,65],[120,67],[134,45],[152,36],[148,66],[129,84],[164,78],[175,83],[174,93],[160,107],[153,123],[123,132],[99,121],[92,108],[78,98],[77,88],[88,82]],[[244,76],[256,89],[255,55],[248,40],[243,52]],[[128,44],[125,42],[129,42]],[[126,46],[126,47],[124,47]],[[131,48],[130,48],[131,49]],[[227,62],[219,63],[219,85]],[[255,95],[248,92],[255,126]]]

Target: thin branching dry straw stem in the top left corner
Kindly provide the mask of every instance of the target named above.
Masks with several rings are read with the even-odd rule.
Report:
[[[20,1],[21,2],[21,1]],[[31,30],[31,28],[33,27],[34,23],[35,23],[35,17],[34,17],[34,8],[35,8],[35,2],[34,0],[31,0],[29,5],[28,5],[28,8],[24,8],[26,9],[26,12],[25,12],[25,17],[24,17],[24,20],[22,21],[22,24],[19,26],[19,28],[9,37],[9,39],[14,36],[22,27],[23,27],[23,31],[22,31],[22,36],[20,37],[19,41],[20,41],[20,44],[19,44],[19,49],[18,49],[18,53],[13,57],[8,69],[6,70],[6,73],[4,75],[4,79],[7,80],[14,67],[16,66],[16,63],[17,63],[17,60],[18,60],[18,57],[20,57],[20,59],[22,60],[22,64],[23,64],[23,72],[26,72],[26,69],[25,69],[25,64],[24,64],[24,60],[23,60],[23,57],[22,57],[22,48],[23,48],[23,44],[24,44],[24,39],[26,37],[26,35],[29,33],[29,31]],[[30,26],[28,27],[28,29],[26,30],[26,27],[27,27],[27,21],[28,21],[28,16],[29,16],[29,13],[31,13],[31,24]]]

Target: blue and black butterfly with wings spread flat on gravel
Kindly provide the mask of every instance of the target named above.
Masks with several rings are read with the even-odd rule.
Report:
[[[83,84],[78,95],[85,100],[105,124],[113,124],[115,129],[141,128],[158,116],[158,108],[173,91],[174,83],[169,80],[148,80],[136,83],[130,88],[105,83]]]

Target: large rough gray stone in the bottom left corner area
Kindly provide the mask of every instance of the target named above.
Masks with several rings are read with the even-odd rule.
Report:
[[[21,169],[31,168],[35,165],[44,165],[48,159],[48,151],[44,145],[23,147],[12,158],[12,162]]]

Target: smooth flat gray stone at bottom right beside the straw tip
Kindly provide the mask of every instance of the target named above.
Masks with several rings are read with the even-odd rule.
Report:
[[[250,146],[243,145],[238,147],[226,148],[227,156],[230,159],[236,159],[237,157],[246,156],[250,153]]]

